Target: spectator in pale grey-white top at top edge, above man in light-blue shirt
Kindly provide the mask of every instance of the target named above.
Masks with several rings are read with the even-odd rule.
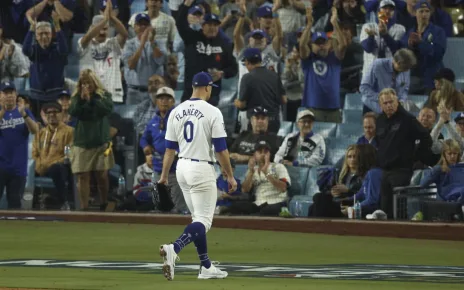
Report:
[[[153,36],[156,43],[162,51],[166,53],[172,47],[174,36],[176,35],[176,20],[172,16],[162,12],[163,0],[145,0],[147,10],[142,12],[148,19],[148,25],[151,25],[150,30],[153,30]],[[129,20],[129,26],[137,34],[135,24],[137,24],[137,17],[140,14],[133,14]],[[144,18],[145,18],[144,17]]]

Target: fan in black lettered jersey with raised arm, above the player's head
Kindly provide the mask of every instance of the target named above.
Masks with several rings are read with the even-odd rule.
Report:
[[[238,66],[232,54],[232,47],[218,35],[221,21],[215,14],[206,14],[200,31],[190,28],[187,21],[188,10],[194,0],[186,0],[179,7],[177,29],[185,43],[185,90],[182,101],[191,97],[192,78],[201,71],[209,72],[214,84],[209,103],[217,106],[221,91],[221,79],[231,78],[237,74]]]

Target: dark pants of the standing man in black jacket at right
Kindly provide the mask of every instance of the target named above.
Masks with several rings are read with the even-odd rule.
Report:
[[[412,171],[410,169],[384,170],[380,185],[380,208],[393,218],[393,188],[407,186],[411,182]]]

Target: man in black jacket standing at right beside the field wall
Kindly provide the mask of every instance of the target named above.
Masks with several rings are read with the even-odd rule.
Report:
[[[420,160],[429,159],[432,138],[428,130],[399,105],[395,90],[383,89],[379,104],[383,112],[377,118],[377,160],[383,169],[380,204],[388,218],[392,218],[393,188],[409,185],[416,161],[414,153]],[[417,141],[420,141],[419,148],[415,148]]]

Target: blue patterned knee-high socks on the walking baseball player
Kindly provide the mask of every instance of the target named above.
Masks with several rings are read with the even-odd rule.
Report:
[[[195,222],[185,227],[184,233],[173,243],[174,251],[176,254],[179,254],[179,252],[191,242],[193,242],[197,248],[201,265],[209,269],[209,267],[211,267],[211,261],[208,258],[206,229],[202,223]]]

